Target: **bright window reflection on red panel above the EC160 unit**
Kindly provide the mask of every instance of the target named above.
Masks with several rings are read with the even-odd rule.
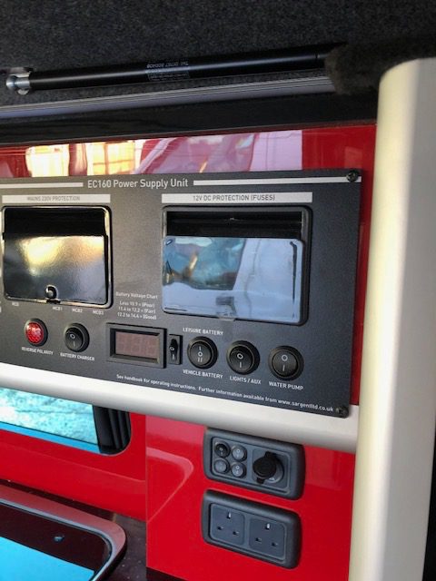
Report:
[[[0,177],[302,169],[302,131],[0,149]]]

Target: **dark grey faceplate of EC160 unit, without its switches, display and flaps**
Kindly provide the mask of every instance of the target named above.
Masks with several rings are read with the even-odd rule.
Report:
[[[346,176],[343,170],[124,175],[41,179],[38,180],[41,189],[35,188],[36,180],[33,179],[2,180],[4,207],[53,203],[56,206],[65,204],[65,207],[77,204],[108,208],[113,302],[108,308],[28,302],[8,300],[2,291],[0,360],[131,383],[144,390],[147,387],[169,389],[343,417],[350,401],[361,185],[359,180],[349,182]],[[221,179],[253,182],[238,185],[203,183],[204,180]],[[258,179],[263,182],[256,183]],[[265,183],[268,179],[274,182]],[[281,179],[287,179],[288,183]],[[53,182],[59,183],[59,187],[45,187]],[[197,185],[194,182],[198,182]],[[5,189],[7,183],[14,183],[14,189]],[[20,183],[22,190],[17,188]],[[28,183],[33,184],[32,190],[25,188]],[[69,187],[63,188],[62,183]],[[72,183],[77,185],[72,186]],[[247,192],[248,197],[235,197]],[[283,212],[288,212],[295,206],[310,211],[312,234],[305,282],[307,318],[302,324],[186,316],[163,311],[163,207],[207,208],[210,212],[214,204],[204,196],[198,197],[202,193],[207,193],[211,200],[213,196],[218,196],[220,201],[232,200],[231,205],[220,203],[221,209],[256,208],[266,214],[269,208],[283,208]],[[259,196],[264,193],[268,195]],[[292,197],[294,193],[297,195]],[[223,194],[231,194],[231,197]],[[171,197],[165,198],[169,195]],[[48,339],[42,347],[32,347],[25,340],[24,325],[30,319],[45,322]],[[89,332],[89,347],[80,353],[69,351],[64,344],[64,329],[72,323],[83,325]],[[163,367],[147,366],[138,359],[131,362],[108,360],[109,324],[163,330],[163,344],[160,345]],[[183,339],[180,365],[168,365],[164,360],[170,334]],[[198,369],[189,361],[186,348],[196,337],[213,340],[218,357],[212,367]],[[236,341],[246,341],[258,350],[260,362],[253,373],[241,375],[228,367],[226,353]],[[272,350],[282,346],[292,347],[302,356],[302,373],[297,379],[278,379],[269,368]]]

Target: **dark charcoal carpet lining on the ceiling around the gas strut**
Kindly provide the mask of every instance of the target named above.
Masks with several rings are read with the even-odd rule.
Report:
[[[404,39],[418,39],[420,44],[436,30],[436,2],[428,0],[3,0],[2,16],[4,70],[19,66],[69,70],[316,44],[347,43],[352,51],[355,46],[370,46],[372,64],[368,50],[360,56],[350,53],[355,58],[348,60],[343,53],[336,54],[331,61],[329,70],[338,87],[349,92],[365,83],[376,85],[380,74],[370,78],[371,69],[386,66],[378,47],[394,41],[394,62],[413,58],[420,54],[411,52]],[[403,39],[402,44],[395,39]],[[385,64],[379,64],[381,60]],[[147,85],[147,91],[151,89]],[[137,91],[136,85],[124,87],[122,93]],[[104,87],[23,97],[3,85],[0,103],[115,93]]]

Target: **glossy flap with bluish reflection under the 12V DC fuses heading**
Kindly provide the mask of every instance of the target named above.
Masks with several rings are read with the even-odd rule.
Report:
[[[167,236],[163,310],[299,323],[302,241]]]

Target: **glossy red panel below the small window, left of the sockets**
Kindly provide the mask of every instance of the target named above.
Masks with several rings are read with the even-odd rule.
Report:
[[[132,414],[132,439],[104,456],[0,430],[0,478],[145,519],[145,418]]]

